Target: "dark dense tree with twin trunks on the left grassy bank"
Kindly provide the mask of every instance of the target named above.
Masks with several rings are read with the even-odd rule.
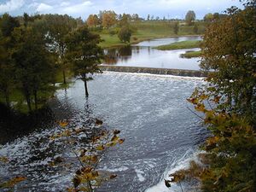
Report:
[[[15,79],[26,98],[29,112],[32,111],[32,96],[38,109],[38,91],[48,86],[52,71],[49,52],[43,34],[31,26],[20,26],[13,32],[15,46],[12,59],[15,62]]]

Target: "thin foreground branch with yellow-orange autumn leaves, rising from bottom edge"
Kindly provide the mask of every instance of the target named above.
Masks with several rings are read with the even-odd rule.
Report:
[[[96,119],[96,125],[101,124],[102,121]],[[67,125],[66,121],[60,122],[61,131],[50,137],[52,140],[65,138],[67,148],[71,150],[79,162],[80,167],[73,176],[73,187],[68,188],[67,191],[92,192],[103,182],[117,177],[115,174],[101,172],[96,168],[106,149],[124,143],[125,140],[118,136],[120,131],[96,131],[94,128],[88,141],[86,141],[86,146],[79,147],[76,145],[78,143],[76,138],[86,130],[84,127],[68,129]],[[55,162],[52,162],[52,165],[55,165]]]

